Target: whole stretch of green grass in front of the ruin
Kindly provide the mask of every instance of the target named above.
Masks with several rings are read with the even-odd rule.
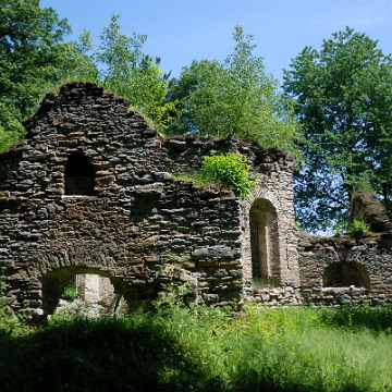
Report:
[[[1,391],[392,391],[392,307],[171,307],[0,334]]]

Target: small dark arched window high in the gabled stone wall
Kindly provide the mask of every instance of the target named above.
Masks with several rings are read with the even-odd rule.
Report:
[[[65,195],[94,195],[94,167],[82,152],[72,154],[66,162]]]

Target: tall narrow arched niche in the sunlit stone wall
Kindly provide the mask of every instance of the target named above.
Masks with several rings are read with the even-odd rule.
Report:
[[[280,283],[277,210],[271,201],[256,199],[249,210],[252,277]]]

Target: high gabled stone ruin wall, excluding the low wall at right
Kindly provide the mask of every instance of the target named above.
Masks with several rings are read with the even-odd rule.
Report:
[[[75,273],[109,278],[126,301],[157,298],[172,281],[189,282],[198,303],[240,301],[258,200],[275,213],[273,278],[297,284],[290,156],[235,138],[164,139],[130,102],[91,84],[48,95],[25,126],[27,137],[0,156],[0,266],[14,311],[51,314]],[[173,180],[212,149],[247,156],[259,185],[245,201]],[[68,173],[78,156],[94,168],[82,181],[94,188],[78,189]]]

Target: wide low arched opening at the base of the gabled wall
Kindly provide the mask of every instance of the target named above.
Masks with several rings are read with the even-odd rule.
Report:
[[[79,280],[79,278],[82,279]],[[96,281],[91,282],[91,279],[95,279]],[[78,294],[82,299],[87,302],[98,302],[99,297],[93,298],[93,296],[97,294],[95,293],[96,290],[100,290],[99,285],[108,284],[105,283],[105,279],[110,282],[113,291],[112,297],[109,299],[106,298],[107,303],[105,304],[105,306],[115,311],[117,307],[119,306],[120,299],[126,293],[126,284],[121,279],[114,278],[106,271],[89,267],[64,267],[47,272],[40,279],[42,290],[44,317],[47,318],[48,315],[53,314],[54,309],[59,304],[64,287],[70,283],[74,289],[78,290]],[[87,281],[89,281],[89,283],[87,283]],[[87,284],[95,284],[97,287],[86,287]]]

